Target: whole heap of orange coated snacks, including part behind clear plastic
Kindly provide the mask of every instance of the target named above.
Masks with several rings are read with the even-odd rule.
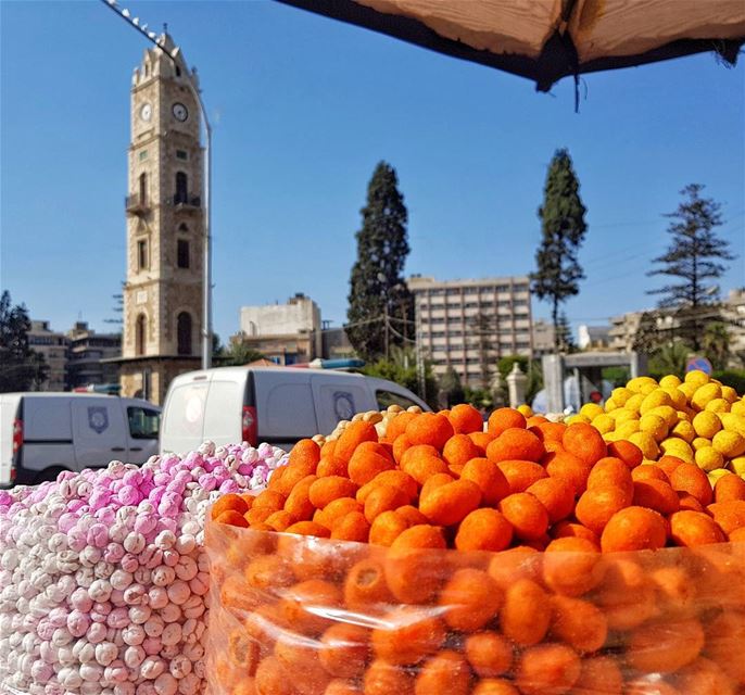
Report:
[[[211,692],[745,692],[745,481],[582,422],[482,430],[468,405],[352,422],[219,498]]]

